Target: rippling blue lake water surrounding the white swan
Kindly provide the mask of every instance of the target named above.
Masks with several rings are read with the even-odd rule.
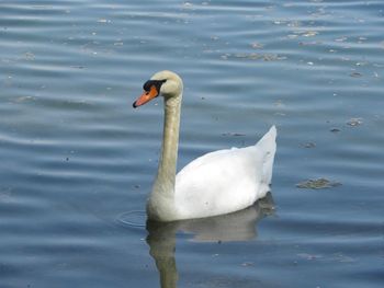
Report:
[[[1,1],[0,287],[382,287],[383,14]],[[162,69],[184,79],[179,168],[278,126],[269,199],[145,229],[162,108],[132,103]],[[342,185],[296,187],[320,177]]]

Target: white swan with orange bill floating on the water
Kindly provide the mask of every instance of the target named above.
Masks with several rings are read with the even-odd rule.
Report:
[[[276,128],[255,145],[206,153],[187,164],[178,174],[181,78],[159,71],[145,82],[138,107],[161,95],[165,122],[160,160],[147,200],[149,220],[176,221],[205,218],[245,209],[270,191],[276,150]]]

